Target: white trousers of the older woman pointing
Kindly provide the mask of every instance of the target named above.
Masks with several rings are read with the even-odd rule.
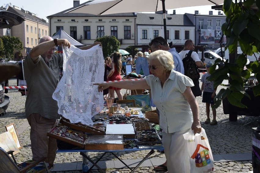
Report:
[[[190,173],[190,160],[187,151],[188,142],[182,136],[189,130],[174,133],[162,131],[162,142],[169,173]]]

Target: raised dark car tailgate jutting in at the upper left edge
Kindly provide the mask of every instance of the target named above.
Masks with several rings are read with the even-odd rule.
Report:
[[[12,12],[0,10],[0,29],[11,28],[12,26],[23,23],[24,19]]]

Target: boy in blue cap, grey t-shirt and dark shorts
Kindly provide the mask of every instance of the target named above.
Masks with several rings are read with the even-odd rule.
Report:
[[[207,120],[205,121],[205,123],[210,123],[209,105],[211,105],[212,108],[214,104],[213,99],[216,95],[216,90],[217,90],[217,89],[214,90],[213,88],[213,81],[208,80],[208,77],[210,76],[209,68],[211,67],[211,65],[213,65],[213,63],[210,61],[206,63],[205,68],[207,70],[207,73],[205,73],[200,79],[200,81],[202,82],[201,92],[203,91],[202,102],[206,103]],[[212,114],[213,114],[213,120],[210,123],[210,125],[216,125],[218,124],[218,122],[216,121],[216,109],[212,108]]]

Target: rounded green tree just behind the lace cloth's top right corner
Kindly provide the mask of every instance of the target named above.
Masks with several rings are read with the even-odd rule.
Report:
[[[120,42],[115,36],[103,36],[97,38],[95,41],[99,41],[102,43],[102,51],[104,57],[110,56],[115,51],[118,51],[120,47]]]

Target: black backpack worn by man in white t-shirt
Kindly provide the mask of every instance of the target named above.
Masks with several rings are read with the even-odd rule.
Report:
[[[191,54],[193,51],[189,51],[185,55],[185,58],[182,59],[183,67],[184,67],[184,75],[188,76],[191,80],[198,80],[200,79],[200,73],[198,72],[198,68],[191,58]]]

